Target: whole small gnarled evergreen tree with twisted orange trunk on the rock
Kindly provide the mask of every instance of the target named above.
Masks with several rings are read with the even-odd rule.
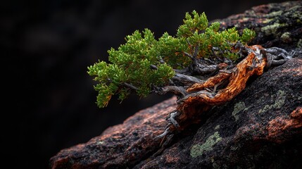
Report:
[[[105,107],[111,96],[123,100],[131,92],[177,96],[177,109],[170,113],[163,137],[199,123],[202,113],[237,96],[248,77],[261,75],[264,68],[279,65],[293,54],[279,48],[248,46],[253,30],[235,27],[220,30],[220,23],[208,24],[205,13],[186,13],[177,35],[167,32],[155,39],[151,30],[128,35],[118,49],[108,50],[109,62],[89,66],[89,75],[99,82],[97,105]],[[278,55],[277,55],[278,54]]]

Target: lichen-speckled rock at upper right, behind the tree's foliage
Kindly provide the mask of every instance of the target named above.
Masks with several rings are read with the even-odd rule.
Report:
[[[245,27],[255,30],[256,38],[251,44],[260,44],[265,48],[302,47],[301,1],[255,6],[244,13],[214,21],[219,21],[223,28],[237,27],[239,32]]]

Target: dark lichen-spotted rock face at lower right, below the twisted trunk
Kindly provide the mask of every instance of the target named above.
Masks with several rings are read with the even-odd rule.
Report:
[[[135,168],[301,168],[302,56],[256,79],[206,123]]]

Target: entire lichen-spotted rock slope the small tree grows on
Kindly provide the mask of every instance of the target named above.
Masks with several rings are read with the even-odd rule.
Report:
[[[301,11],[301,1],[268,4],[220,22],[253,28],[253,43],[297,49]],[[153,138],[165,129],[175,101],[139,111],[101,136],[61,150],[50,168],[301,168],[301,55],[252,78],[233,101],[213,108],[156,154],[161,140]]]

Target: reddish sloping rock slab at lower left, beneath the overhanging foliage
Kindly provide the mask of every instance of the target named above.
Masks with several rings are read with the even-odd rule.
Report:
[[[51,158],[51,168],[127,168],[154,154],[165,129],[165,117],[176,108],[176,98],[137,112],[121,125],[105,130],[85,144],[62,150]]]

